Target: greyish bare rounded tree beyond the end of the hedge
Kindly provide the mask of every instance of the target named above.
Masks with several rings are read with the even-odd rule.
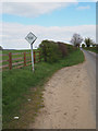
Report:
[[[83,41],[83,38],[79,34],[74,34],[72,39],[71,39],[71,43],[75,46],[75,47],[79,47],[79,45],[82,44]]]

